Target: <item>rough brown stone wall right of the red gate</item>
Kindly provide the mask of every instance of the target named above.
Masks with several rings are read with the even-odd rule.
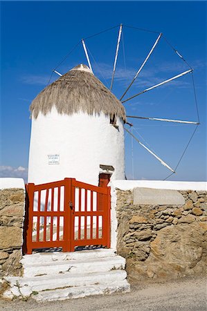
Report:
[[[117,251],[129,281],[204,274],[207,192],[179,191],[184,205],[134,205],[133,191],[116,191]]]

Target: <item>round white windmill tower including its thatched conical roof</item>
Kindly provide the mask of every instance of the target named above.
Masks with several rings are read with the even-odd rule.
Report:
[[[44,88],[30,111],[28,182],[71,177],[98,185],[106,172],[125,178],[125,109],[88,66]]]

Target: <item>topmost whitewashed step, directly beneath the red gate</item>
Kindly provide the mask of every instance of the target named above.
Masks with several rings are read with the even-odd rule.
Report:
[[[37,253],[31,255],[24,255],[21,259],[23,265],[32,265],[35,263],[50,263],[52,261],[76,261],[90,258],[105,258],[116,256],[114,249],[94,249],[94,250],[83,250],[78,252],[48,252],[48,253]]]

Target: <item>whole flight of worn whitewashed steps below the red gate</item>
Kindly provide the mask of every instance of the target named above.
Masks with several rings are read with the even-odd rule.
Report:
[[[53,252],[26,255],[24,276],[5,279],[5,298],[33,296],[37,300],[62,300],[94,294],[129,291],[125,258],[113,249]]]

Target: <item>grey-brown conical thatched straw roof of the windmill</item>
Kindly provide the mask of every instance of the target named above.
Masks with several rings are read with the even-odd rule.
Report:
[[[58,113],[71,115],[82,111],[105,113],[126,119],[125,108],[114,94],[93,75],[86,65],[78,65],[55,82],[46,86],[30,105],[33,117],[46,115],[55,106]]]

